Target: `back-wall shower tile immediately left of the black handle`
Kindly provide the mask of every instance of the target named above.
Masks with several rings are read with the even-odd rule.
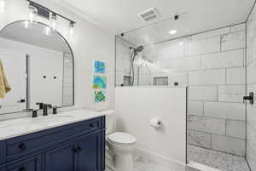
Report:
[[[242,102],[245,91],[245,85],[218,86],[218,101]]]

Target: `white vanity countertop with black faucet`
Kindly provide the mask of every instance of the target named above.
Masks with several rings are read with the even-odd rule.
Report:
[[[95,117],[112,114],[108,111],[73,110],[63,111],[57,115],[45,117],[25,117],[0,122],[0,140],[7,140],[16,136],[31,134],[49,128],[60,127],[70,123],[78,123]]]

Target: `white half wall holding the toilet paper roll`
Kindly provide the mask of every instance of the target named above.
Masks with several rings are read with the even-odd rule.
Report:
[[[185,163],[186,88],[115,88],[117,130],[134,135],[137,148]],[[150,128],[162,118],[163,128]]]

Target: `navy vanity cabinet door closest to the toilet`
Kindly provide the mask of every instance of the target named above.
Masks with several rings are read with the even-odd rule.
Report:
[[[76,145],[78,171],[102,171],[102,133],[92,134],[79,140]]]

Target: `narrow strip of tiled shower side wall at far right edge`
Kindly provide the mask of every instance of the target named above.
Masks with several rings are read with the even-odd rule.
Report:
[[[253,8],[252,14],[247,20],[247,95],[249,92],[256,94],[256,8]],[[250,105],[247,102],[247,162],[252,171],[256,170],[256,105]]]

